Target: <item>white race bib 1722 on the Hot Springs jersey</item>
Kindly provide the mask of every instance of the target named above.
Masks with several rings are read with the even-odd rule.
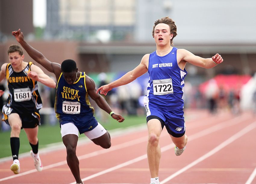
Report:
[[[153,80],[154,95],[165,95],[173,93],[172,79]]]

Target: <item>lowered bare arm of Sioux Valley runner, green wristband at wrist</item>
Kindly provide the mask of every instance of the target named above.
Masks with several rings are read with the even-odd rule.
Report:
[[[96,93],[96,88],[95,88],[95,82],[92,80],[92,78],[88,77],[86,75],[86,88],[88,91],[89,96],[94,100],[97,105],[106,111],[108,114],[112,112],[111,107],[108,105],[106,100],[98,93]],[[124,118],[120,114],[113,114],[112,118],[116,119],[119,122],[123,122]]]

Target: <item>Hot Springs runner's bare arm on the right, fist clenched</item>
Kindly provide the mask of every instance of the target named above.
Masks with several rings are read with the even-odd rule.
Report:
[[[177,61],[178,61],[178,63],[180,63],[179,61],[189,62],[192,65],[200,66],[202,68],[213,68],[217,64],[222,63],[223,59],[220,54],[215,54],[211,58],[202,58],[202,57],[192,54],[191,52],[189,52],[185,49],[178,49],[177,50]]]

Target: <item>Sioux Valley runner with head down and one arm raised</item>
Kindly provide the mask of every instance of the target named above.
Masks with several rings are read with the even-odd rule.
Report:
[[[23,33],[20,29],[13,31],[12,34],[30,57],[56,76],[58,83],[55,112],[61,125],[62,141],[67,149],[67,164],[76,182],[83,183],[80,178],[79,161],[76,156],[79,133],[84,133],[102,148],[108,149],[111,146],[108,131],[93,116],[94,109],[90,106],[89,96],[92,100],[95,100],[101,109],[108,112],[112,118],[119,122],[123,122],[124,118],[120,114],[115,114],[106,100],[96,93],[94,81],[85,72],[78,71],[75,61],[64,60],[61,65],[52,63],[42,53],[24,41]]]

